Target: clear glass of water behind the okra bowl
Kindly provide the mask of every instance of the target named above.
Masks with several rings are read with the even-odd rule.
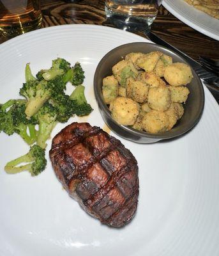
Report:
[[[149,31],[162,0],[105,0],[105,13],[117,28]]]

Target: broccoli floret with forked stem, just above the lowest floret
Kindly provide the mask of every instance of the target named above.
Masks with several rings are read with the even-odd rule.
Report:
[[[26,100],[15,100],[11,107],[11,116],[13,119],[14,131],[19,134],[27,144],[31,145],[36,141],[36,120],[27,118],[25,114]],[[29,131],[29,134],[27,133]]]

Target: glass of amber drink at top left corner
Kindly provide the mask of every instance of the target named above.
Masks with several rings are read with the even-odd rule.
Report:
[[[0,0],[0,31],[4,36],[17,36],[41,24],[40,0]]]

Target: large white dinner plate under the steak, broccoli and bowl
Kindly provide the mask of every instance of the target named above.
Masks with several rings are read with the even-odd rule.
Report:
[[[105,127],[94,99],[94,71],[103,55],[129,42],[148,41],[91,25],[45,28],[9,40],[0,45],[0,102],[18,97],[27,62],[36,74],[59,56],[82,64],[86,97],[94,109],[88,118],[68,124],[86,120]],[[43,173],[6,174],[4,164],[29,147],[19,136],[1,132],[0,255],[218,256],[219,108],[206,88],[205,93],[202,118],[185,136],[151,145],[121,139],[138,161],[140,182],[137,214],[124,228],[102,225],[68,196],[49,161],[51,140]],[[52,136],[65,125],[58,124]]]

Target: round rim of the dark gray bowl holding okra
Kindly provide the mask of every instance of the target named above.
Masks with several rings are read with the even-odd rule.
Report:
[[[192,70],[192,74],[193,74],[193,79],[195,78],[197,80],[197,85],[200,88],[200,108],[199,111],[197,112],[197,115],[195,116],[195,118],[193,119],[193,122],[188,125],[188,127],[186,126],[185,129],[183,130],[179,130],[176,131],[174,134],[171,134],[170,131],[167,132],[159,132],[156,134],[153,133],[149,133],[146,131],[138,131],[137,129],[133,129],[132,127],[128,127],[126,125],[121,125],[118,124],[111,116],[110,114],[110,110],[107,107],[107,105],[105,104],[104,100],[103,100],[103,96],[102,93],[98,92],[98,88],[97,88],[97,78],[99,76],[99,72],[98,70],[100,69],[100,67],[102,66],[103,62],[105,62],[105,60],[108,58],[108,56],[110,56],[110,54],[112,54],[112,52],[114,51],[118,51],[119,49],[123,48],[123,47],[127,47],[129,45],[136,45],[136,44],[141,44],[141,45],[155,45],[156,47],[158,47],[161,51],[162,49],[170,52],[170,54],[174,54],[175,56],[181,58],[187,65],[190,66],[191,70]],[[156,50],[158,51],[158,50]],[[177,136],[181,136],[183,134],[185,134],[186,132],[188,132],[190,129],[192,129],[200,120],[202,113],[203,113],[203,109],[204,109],[204,102],[205,102],[205,96],[204,96],[204,88],[203,88],[203,84],[200,81],[199,76],[196,74],[195,70],[191,67],[190,64],[188,64],[188,62],[185,60],[185,58],[183,58],[183,56],[181,56],[180,54],[178,54],[177,52],[174,52],[170,49],[168,49],[167,47],[163,47],[162,45],[159,44],[154,44],[153,42],[132,42],[132,43],[128,43],[128,44],[123,44],[123,45],[119,45],[117,47],[115,47],[114,49],[110,50],[109,52],[107,52],[107,54],[105,54],[102,59],[100,60],[100,62],[98,63],[95,73],[94,73],[94,95],[96,97],[96,101],[98,102],[98,106],[100,109],[102,109],[102,111],[105,113],[105,115],[107,115],[107,118],[110,118],[110,120],[116,125],[119,126],[119,128],[121,128],[123,131],[125,132],[130,132],[132,135],[137,136],[137,137],[143,137],[143,138],[151,138],[151,139],[156,139],[156,141],[158,140],[167,140],[167,139],[171,139],[171,138],[175,138]],[[114,131],[114,130],[113,130]],[[116,131],[115,131],[116,132]]]

